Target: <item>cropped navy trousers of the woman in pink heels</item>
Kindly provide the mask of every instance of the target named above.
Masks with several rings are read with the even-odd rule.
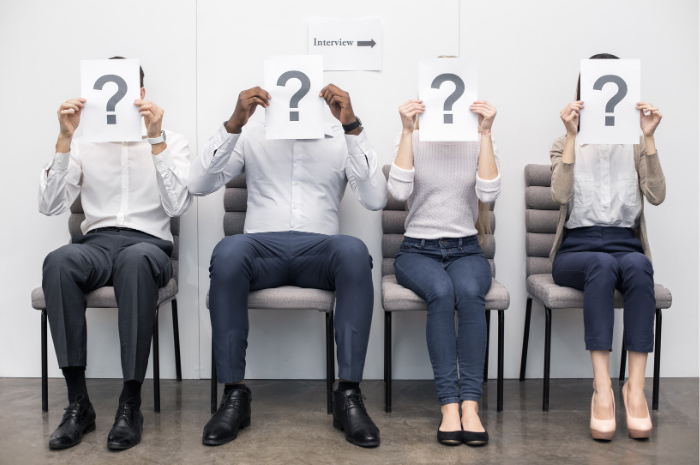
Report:
[[[586,350],[612,350],[615,288],[625,294],[627,350],[654,350],[654,269],[629,228],[566,231],[552,266],[554,282],[583,291]]]

